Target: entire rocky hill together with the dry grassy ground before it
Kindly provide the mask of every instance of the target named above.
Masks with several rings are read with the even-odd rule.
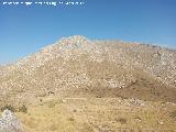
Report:
[[[175,95],[176,51],[155,45],[76,35],[0,66],[1,110],[25,132],[175,132]]]

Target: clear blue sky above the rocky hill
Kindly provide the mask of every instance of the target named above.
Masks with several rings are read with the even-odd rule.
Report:
[[[82,0],[84,6],[67,7],[2,6],[3,1],[8,0],[0,0],[0,64],[77,34],[176,48],[176,0]]]

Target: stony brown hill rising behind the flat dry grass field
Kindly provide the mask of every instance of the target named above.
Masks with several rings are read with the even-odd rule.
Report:
[[[0,97],[26,100],[63,90],[176,101],[176,51],[122,41],[64,37],[0,67]]]

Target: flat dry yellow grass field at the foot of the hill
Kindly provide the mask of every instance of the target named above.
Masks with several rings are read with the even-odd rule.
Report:
[[[118,98],[43,98],[42,105],[29,106],[28,114],[18,112],[26,132],[120,132],[176,130],[169,117],[175,106],[147,102],[144,107],[125,105]],[[61,101],[65,100],[65,101]],[[121,103],[120,103],[121,102]]]

